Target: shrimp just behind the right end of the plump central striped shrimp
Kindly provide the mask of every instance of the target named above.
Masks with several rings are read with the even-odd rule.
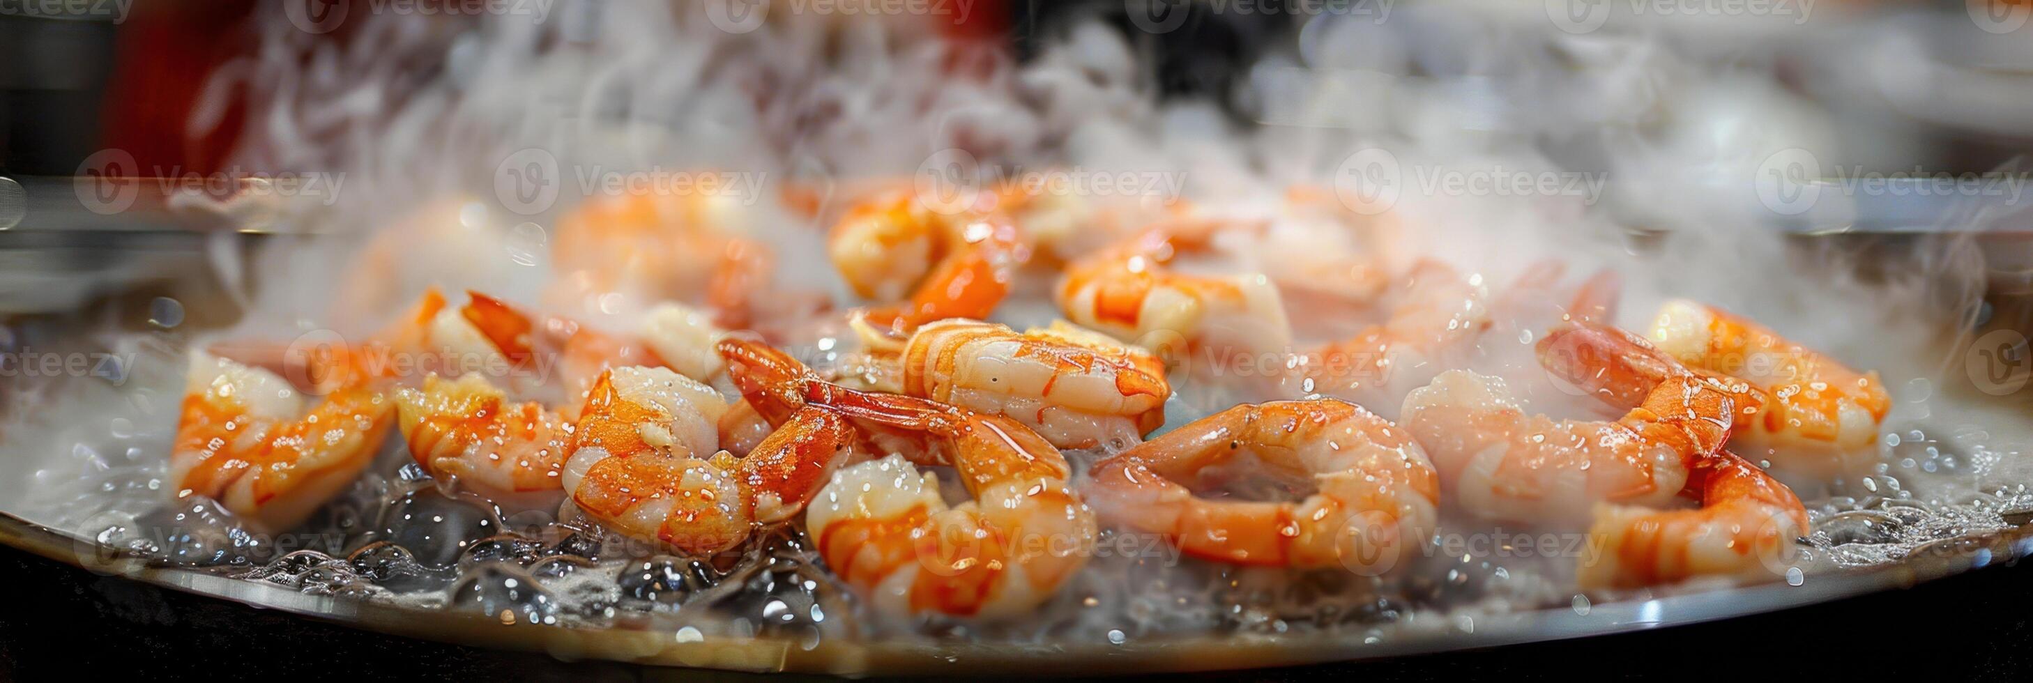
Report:
[[[1271,278],[1195,276],[1165,268],[1181,250],[1206,248],[1218,228],[1177,218],[1080,258],[1055,299],[1067,319],[1124,342],[1177,335],[1220,352],[1283,352],[1291,323]]]

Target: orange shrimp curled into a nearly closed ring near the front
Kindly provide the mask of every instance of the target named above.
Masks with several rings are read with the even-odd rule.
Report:
[[[1208,500],[1202,472],[1240,455],[1309,480],[1299,502]],[[1409,433],[1336,398],[1238,405],[1094,465],[1112,524],[1171,539],[1187,555],[1380,573],[1425,547],[1439,480]]]

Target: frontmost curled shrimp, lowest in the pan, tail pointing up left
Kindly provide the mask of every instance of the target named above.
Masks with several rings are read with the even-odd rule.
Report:
[[[974,500],[947,506],[939,478],[905,455],[842,470],[805,512],[819,557],[890,614],[1029,614],[1088,563],[1096,524],[1067,463],[1021,423],[927,398],[807,384],[864,429],[919,439],[919,463],[951,465]]]

